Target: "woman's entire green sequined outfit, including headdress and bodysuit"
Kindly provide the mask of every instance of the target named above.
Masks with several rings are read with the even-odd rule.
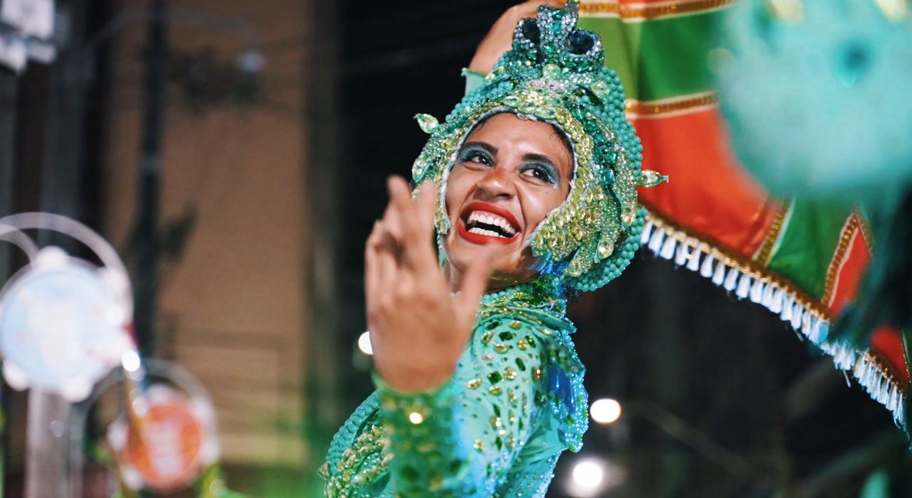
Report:
[[[484,82],[470,81],[447,119],[417,117],[430,140],[412,179],[439,187],[441,263],[451,228],[447,177],[462,141],[493,114],[513,112],[565,134],[574,155],[570,193],[527,238],[542,275],[483,296],[447,384],[402,394],[375,376],[377,392],[330,446],[321,469],[328,496],[544,496],[560,453],[579,450],[586,390],[565,290],[595,290],[627,267],[643,227],[636,187],[662,177],[640,171],[642,147],[624,116],[624,90],[604,67],[598,36],[576,28],[577,7],[573,0],[565,9],[540,7],[537,19],[516,26],[513,49]]]

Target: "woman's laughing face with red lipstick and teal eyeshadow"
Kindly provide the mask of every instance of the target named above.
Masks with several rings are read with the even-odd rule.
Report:
[[[533,280],[536,258],[526,241],[565,201],[572,175],[573,154],[552,125],[503,112],[476,127],[447,181],[451,275],[492,251],[489,289]]]

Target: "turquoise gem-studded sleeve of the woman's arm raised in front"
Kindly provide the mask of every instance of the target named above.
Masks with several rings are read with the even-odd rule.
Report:
[[[561,368],[554,363],[559,349],[554,333],[532,320],[493,315],[476,326],[456,373],[439,389],[402,394],[377,379],[380,420],[394,455],[388,491],[487,497],[506,486],[523,467],[525,444],[553,416],[548,382],[563,374],[548,370]],[[565,442],[543,438],[525,458],[541,467]],[[530,485],[541,487],[545,476],[536,477]],[[546,477],[545,486],[550,472]]]

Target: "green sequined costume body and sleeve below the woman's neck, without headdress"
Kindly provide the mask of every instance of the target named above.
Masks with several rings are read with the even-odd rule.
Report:
[[[405,395],[375,378],[377,392],[330,447],[326,495],[543,496],[587,421],[575,329],[547,280],[483,297],[472,339],[439,389]]]

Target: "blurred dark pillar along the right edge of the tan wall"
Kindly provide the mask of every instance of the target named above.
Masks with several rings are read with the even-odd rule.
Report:
[[[341,420],[339,402],[339,365],[346,361],[335,337],[340,327],[338,298],[339,232],[338,200],[338,34],[336,2],[312,2],[305,20],[307,31],[313,35],[305,45],[306,56],[306,137],[311,144],[305,169],[307,221],[314,237],[307,244],[306,295],[307,309],[305,351],[305,417],[315,430],[306,434],[309,451],[326,451],[329,438]],[[313,144],[320,144],[315,146]],[[333,331],[326,334],[326,331]],[[310,490],[319,493],[322,482],[311,478]]]

